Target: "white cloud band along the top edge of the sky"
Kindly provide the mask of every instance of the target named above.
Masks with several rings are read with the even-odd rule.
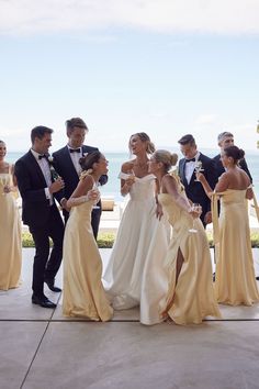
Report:
[[[0,0],[1,34],[135,27],[258,34],[258,0]]]

